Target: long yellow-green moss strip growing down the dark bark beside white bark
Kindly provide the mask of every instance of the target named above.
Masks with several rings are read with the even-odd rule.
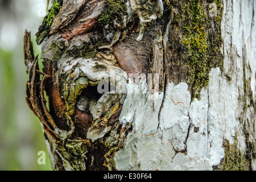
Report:
[[[222,17],[222,0],[214,2],[217,3],[218,16]],[[200,98],[201,89],[209,84],[210,69],[222,67],[223,60],[220,51],[221,18],[207,16],[202,5],[202,0],[187,0],[182,10],[182,43],[188,50],[187,82],[192,84],[192,101]]]

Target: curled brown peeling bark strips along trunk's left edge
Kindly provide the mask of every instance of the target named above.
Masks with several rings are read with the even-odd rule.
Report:
[[[27,50],[29,48],[29,50]],[[25,63],[29,63],[26,65],[32,65],[28,68],[29,71],[29,81],[27,82],[27,105],[29,105],[30,109],[34,112],[35,115],[40,119],[43,129],[47,134],[50,135],[53,140],[58,139],[65,139],[71,136],[74,131],[74,123],[71,117],[66,114],[66,119],[69,122],[68,125],[70,126],[69,131],[63,131],[57,127],[54,122],[50,111],[46,106],[46,99],[45,99],[45,86],[49,82],[52,81],[52,69],[50,67],[46,67],[46,73],[50,73],[51,75],[47,75],[46,73],[41,73],[39,71],[38,66],[38,56],[34,58],[32,61],[31,59],[34,57],[31,55],[33,53],[33,44],[30,41],[30,33],[27,31],[25,32],[25,42],[24,42],[24,52],[25,52]],[[26,59],[27,57],[27,59]],[[40,81],[40,74],[43,75],[42,80]]]

